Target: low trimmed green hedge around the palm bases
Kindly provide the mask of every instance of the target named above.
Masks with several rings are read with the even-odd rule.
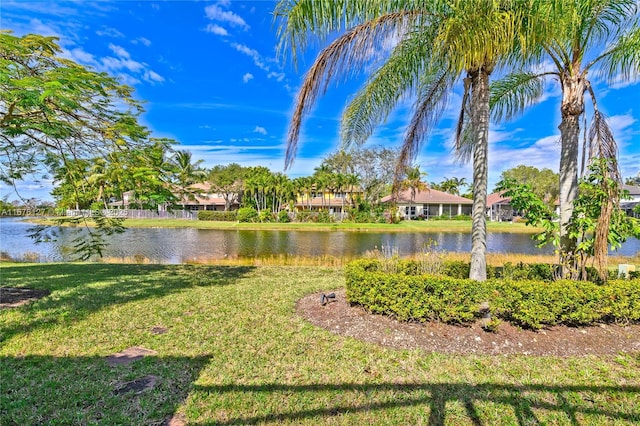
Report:
[[[445,269],[460,272],[461,267],[458,262],[449,262]],[[541,269],[547,273],[545,268]],[[483,302],[489,302],[494,318],[536,330],[556,324],[640,321],[638,279],[610,280],[604,285],[514,278],[477,282],[445,275],[420,275],[417,262],[404,260],[398,261],[395,273],[385,270],[388,268],[379,260],[349,263],[347,300],[402,321],[467,323],[478,318]]]

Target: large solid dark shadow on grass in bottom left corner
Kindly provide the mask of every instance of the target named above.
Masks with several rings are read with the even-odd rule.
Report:
[[[111,367],[101,357],[0,357],[0,424],[166,424],[208,362],[150,356]],[[148,375],[153,388],[121,391]]]

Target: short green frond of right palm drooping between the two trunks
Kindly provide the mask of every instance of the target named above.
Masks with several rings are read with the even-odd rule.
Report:
[[[515,72],[491,84],[489,108],[494,121],[510,120],[544,94],[544,74]]]

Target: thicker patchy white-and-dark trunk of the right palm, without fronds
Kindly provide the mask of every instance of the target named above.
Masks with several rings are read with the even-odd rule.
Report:
[[[562,276],[577,278],[575,250],[577,240],[569,236],[573,202],[578,196],[578,151],[580,150],[580,115],[584,112],[584,81],[563,76],[562,122],[560,129],[560,265]]]

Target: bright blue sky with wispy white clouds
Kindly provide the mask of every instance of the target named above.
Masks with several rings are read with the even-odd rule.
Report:
[[[64,56],[106,71],[145,100],[142,122],[154,137],[179,142],[206,167],[237,162],[283,171],[285,136],[297,89],[318,50],[298,67],[276,58],[272,1],[8,1],[0,27],[16,35],[57,36]],[[544,64],[541,64],[544,66]],[[304,122],[289,176],[310,175],[339,147],[339,119],[358,80],[341,81]],[[640,173],[640,85],[596,82],[599,106],[610,118],[625,177]],[[559,163],[560,91],[549,84],[544,100],[520,119],[493,124],[489,184],[503,170],[526,164],[554,171]],[[416,160],[426,180],[465,177],[471,167],[451,160],[459,90]],[[410,103],[399,105],[368,144],[398,146]],[[23,197],[49,199],[50,184],[26,181]],[[12,189],[0,186],[0,196]]]

